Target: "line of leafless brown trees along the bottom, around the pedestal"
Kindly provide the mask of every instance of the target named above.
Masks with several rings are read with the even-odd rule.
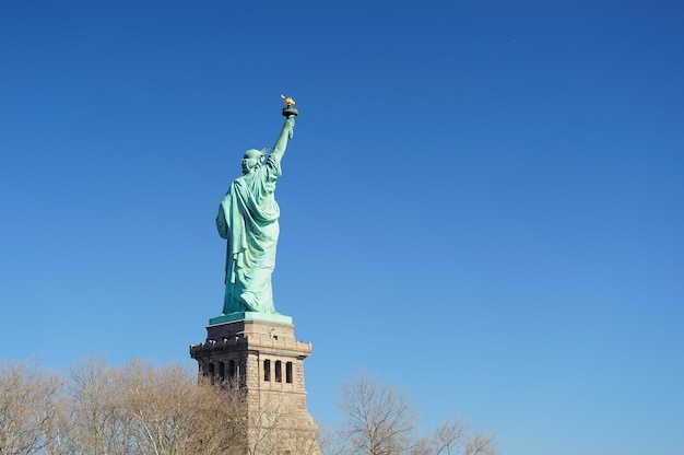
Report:
[[[292,455],[498,454],[494,434],[462,419],[421,434],[409,397],[365,373],[344,383],[340,407],[344,422]],[[247,436],[255,425],[257,440]],[[180,365],[114,368],[95,355],[67,374],[35,360],[0,365],[0,455],[280,455],[280,441],[297,441],[291,428],[286,412],[249,416],[238,387]]]

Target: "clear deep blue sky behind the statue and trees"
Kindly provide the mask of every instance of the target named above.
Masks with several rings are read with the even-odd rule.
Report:
[[[677,1],[0,2],[0,359],[181,362],[299,107],[275,307],[508,455],[684,451]]]

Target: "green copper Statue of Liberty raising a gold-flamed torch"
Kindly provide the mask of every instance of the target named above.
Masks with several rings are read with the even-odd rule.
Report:
[[[298,114],[294,100],[285,102],[285,124],[273,151],[251,149],[243,158],[243,176],[236,178],[219,207],[216,228],[227,240],[225,298],[223,314],[257,312],[278,314],[273,306],[271,273],[275,268],[275,247],[280,208],[274,198],[281,175],[281,160],[294,133]]]

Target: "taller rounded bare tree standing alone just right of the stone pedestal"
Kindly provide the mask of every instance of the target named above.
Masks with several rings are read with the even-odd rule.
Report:
[[[408,454],[416,438],[417,412],[393,386],[359,373],[342,387],[341,408],[349,417],[342,430],[352,454]]]

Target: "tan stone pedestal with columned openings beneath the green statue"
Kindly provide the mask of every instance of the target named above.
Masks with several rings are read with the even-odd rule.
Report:
[[[320,453],[304,385],[304,359],[311,343],[295,339],[287,316],[244,315],[210,320],[214,324],[207,327],[207,340],[190,347],[199,374],[239,385],[247,399],[250,445],[271,438],[280,441],[278,454]]]

